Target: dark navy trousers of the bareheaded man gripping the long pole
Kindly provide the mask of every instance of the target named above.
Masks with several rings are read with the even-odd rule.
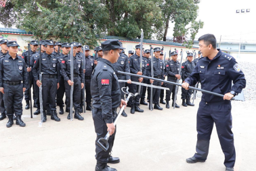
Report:
[[[226,104],[225,104],[226,103]],[[200,101],[196,118],[197,143],[194,157],[207,160],[213,124],[215,123],[221,149],[225,155],[224,165],[233,168],[236,161],[234,135],[232,132],[231,103],[205,103]]]

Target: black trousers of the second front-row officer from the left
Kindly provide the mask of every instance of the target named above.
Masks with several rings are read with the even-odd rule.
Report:
[[[42,78],[42,95],[43,95],[43,110],[47,110],[47,103],[49,109],[56,110],[56,94],[57,94],[57,78]]]

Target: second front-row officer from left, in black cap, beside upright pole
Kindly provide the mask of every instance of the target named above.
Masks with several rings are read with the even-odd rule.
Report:
[[[60,87],[60,65],[54,52],[54,42],[51,40],[45,41],[45,53],[41,55],[41,72],[42,82],[39,80],[39,58],[37,58],[33,66],[33,75],[37,80],[37,86],[43,88],[43,122],[46,122],[47,102],[49,102],[49,109],[51,113],[51,120],[60,121],[56,113],[56,94]]]

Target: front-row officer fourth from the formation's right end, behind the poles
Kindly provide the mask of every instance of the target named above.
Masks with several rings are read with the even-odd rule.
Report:
[[[140,72],[140,45],[136,45],[135,48],[136,48],[136,53],[132,55],[129,59],[130,71],[133,74],[146,76],[146,67],[142,67],[142,72]],[[143,82],[143,78],[131,76],[131,81]],[[135,94],[137,92],[137,89],[139,88],[139,85],[131,84],[130,87],[131,87],[130,92]],[[142,95],[142,91],[139,92],[139,95],[137,95],[136,97],[129,99],[129,102],[131,104],[131,114],[134,114],[135,112],[144,112],[144,110],[140,109],[139,107],[141,95]]]

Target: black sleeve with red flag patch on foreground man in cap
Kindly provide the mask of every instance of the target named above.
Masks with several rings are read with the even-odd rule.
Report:
[[[112,76],[112,73],[110,73],[108,70],[100,72],[97,76],[100,93],[100,103],[102,106],[102,117],[107,124],[113,123],[111,98],[113,79],[114,78]]]

